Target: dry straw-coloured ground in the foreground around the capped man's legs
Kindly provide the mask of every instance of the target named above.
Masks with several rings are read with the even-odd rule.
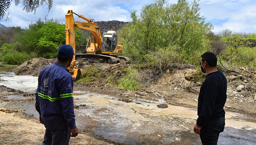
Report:
[[[6,108],[0,108],[6,110]],[[35,145],[42,144],[45,127],[37,118],[20,118],[15,113],[0,111],[0,144]],[[70,144],[110,144],[100,139],[80,133],[70,139]]]

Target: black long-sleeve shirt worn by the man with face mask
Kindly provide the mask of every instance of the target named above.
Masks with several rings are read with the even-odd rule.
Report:
[[[208,74],[200,88],[198,97],[198,119],[196,124],[202,127],[209,120],[225,116],[223,109],[227,99],[227,79],[221,71]]]

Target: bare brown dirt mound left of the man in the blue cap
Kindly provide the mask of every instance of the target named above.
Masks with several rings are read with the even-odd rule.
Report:
[[[40,70],[52,64],[57,59],[33,58],[13,69],[16,75],[30,75],[38,77]]]

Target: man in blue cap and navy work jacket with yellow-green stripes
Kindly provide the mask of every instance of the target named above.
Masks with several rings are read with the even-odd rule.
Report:
[[[78,134],[73,103],[73,77],[67,69],[74,55],[71,45],[62,45],[58,49],[58,60],[39,73],[35,106],[39,121],[46,128],[43,145],[67,145],[70,136]]]

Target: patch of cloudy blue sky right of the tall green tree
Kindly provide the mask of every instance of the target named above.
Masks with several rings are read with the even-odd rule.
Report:
[[[214,32],[228,28],[256,33],[255,0],[201,0],[200,7],[206,21],[213,23]]]

